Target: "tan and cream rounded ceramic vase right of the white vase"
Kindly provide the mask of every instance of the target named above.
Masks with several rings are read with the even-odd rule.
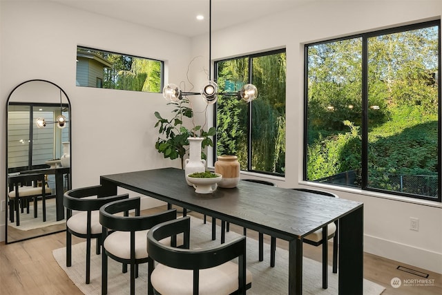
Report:
[[[238,185],[240,181],[240,162],[236,155],[218,155],[215,162],[215,173],[222,175],[222,180],[218,182],[218,187],[231,189]]]

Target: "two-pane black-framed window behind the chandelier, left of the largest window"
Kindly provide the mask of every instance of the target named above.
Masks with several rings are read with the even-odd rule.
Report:
[[[251,83],[258,98],[249,102],[218,98],[216,154],[237,155],[241,169],[285,174],[285,50],[247,55],[215,63],[222,92]]]

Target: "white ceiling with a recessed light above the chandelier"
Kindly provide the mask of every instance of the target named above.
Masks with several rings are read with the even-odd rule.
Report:
[[[50,1],[187,37],[209,31],[209,0]],[[212,30],[259,19],[311,1],[316,0],[212,0]],[[197,15],[204,15],[204,20],[198,21]]]

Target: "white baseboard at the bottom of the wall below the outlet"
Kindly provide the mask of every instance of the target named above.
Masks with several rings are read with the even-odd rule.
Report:
[[[369,235],[364,235],[364,251],[442,274],[441,253]]]

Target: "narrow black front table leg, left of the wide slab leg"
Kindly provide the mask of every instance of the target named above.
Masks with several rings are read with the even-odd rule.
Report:
[[[302,294],[302,238],[289,241],[289,294]]]

